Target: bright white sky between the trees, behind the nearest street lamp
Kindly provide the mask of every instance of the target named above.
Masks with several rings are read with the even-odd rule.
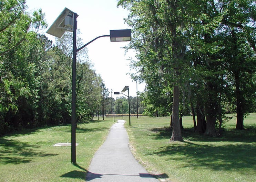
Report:
[[[117,0],[27,0],[28,12],[33,12],[39,8],[45,13],[48,28],[57,19],[59,14],[66,7],[79,16],[77,18],[78,29],[80,29],[83,43],[91,41],[100,35],[108,35],[109,30],[130,29],[124,23],[128,11],[123,8],[116,8]],[[46,32],[46,30],[45,30]],[[55,38],[46,34],[51,40]],[[127,73],[130,71],[129,57],[134,59],[134,52],[129,50],[125,55],[125,50],[121,47],[129,42],[110,42],[109,37],[99,38],[88,48],[88,55],[94,64],[93,69],[99,73],[106,85],[106,88],[113,92],[121,92],[125,86],[129,86],[130,96],[136,96],[136,82]],[[145,84],[138,83],[138,91],[143,91]],[[128,95],[127,92],[124,94]],[[111,96],[111,94],[110,94]],[[116,98],[120,95],[114,95]]]

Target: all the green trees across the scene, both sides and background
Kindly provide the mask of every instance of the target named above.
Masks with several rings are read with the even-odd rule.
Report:
[[[139,113],[172,115],[171,140],[183,140],[180,118],[188,113],[197,132],[216,136],[216,126],[228,119],[225,113],[236,112],[236,129],[243,129],[246,114],[256,112],[255,5],[253,0],[119,0],[118,6],[130,11],[125,21],[133,37],[127,49],[137,51],[131,61],[137,73],[131,77],[146,83]],[[71,120],[72,33],[53,44],[40,34],[47,27],[42,10],[28,14],[26,8],[25,0],[0,2],[0,135]],[[77,122],[98,111],[111,114],[113,107],[120,114],[122,105],[128,113],[127,98],[109,97],[86,49],[76,64]],[[135,113],[136,98],[130,99]]]

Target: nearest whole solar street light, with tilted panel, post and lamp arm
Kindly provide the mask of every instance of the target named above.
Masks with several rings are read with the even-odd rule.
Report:
[[[77,29],[77,14],[68,8],[64,8],[58,18],[53,22],[46,33],[55,37],[61,38],[66,32],[73,32],[73,62],[72,62],[72,99],[71,99],[71,162],[76,163],[75,154],[75,127],[76,127],[76,111],[75,111],[75,87],[76,87],[76,53],[86,47],[100,37],[110,37],[110,42],[131,41],[131,29],[127,30],[110,30],[110,35],[101,35],[80,48],[76,48],[76,29]],[[104,113],[103,113],[104,114]]]

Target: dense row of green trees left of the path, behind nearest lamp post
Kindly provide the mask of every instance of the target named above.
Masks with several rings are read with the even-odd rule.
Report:
[[[25,0],[0,1],[0,135],[71,121],[72,33],[53,44],[40,34],[47,27],[42,10],[26,9]],[[101,105],[104,83],[87,49],[78,53],[76,68],[76,118],[88,121]]]

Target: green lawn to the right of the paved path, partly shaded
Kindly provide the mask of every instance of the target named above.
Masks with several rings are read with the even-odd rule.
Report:
[[[125,118],[126,121],[129,121]],[[193,132],[192,117],[183,118],[184,142],[170,143],[170,117],[132,117],[127,125],[134,155],[152,174],[165,181],[256,181],[256,114],[235,130],[236,118],[225,123],[221,137]]]

